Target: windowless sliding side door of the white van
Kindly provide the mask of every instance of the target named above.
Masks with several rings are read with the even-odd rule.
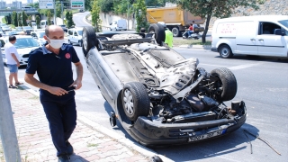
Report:
[[[257,55],[257,25],[254,21],[237,23],[236,49],[234,53]]]

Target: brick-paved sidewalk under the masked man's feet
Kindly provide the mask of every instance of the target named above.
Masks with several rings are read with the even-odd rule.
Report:
[[[49,134],[49,123],[39,96],[31,94],[29,89],[24,90],[25,87],[22,85],[18,89],[8,89],[22,161],[57,161],[56,149]],[[76,130],[69,142],[74,147],[75,154],[70,157],[73,162],[146,162],[152,161],[152,157],[157,155],[149,148],[139,146],[135,141],[120,137],[112,130],[79,115]],[[1,150],[3,149],[0,146],[0,161],[4,161]],[[166,157],[157,156],[163,161],[171,161]]]

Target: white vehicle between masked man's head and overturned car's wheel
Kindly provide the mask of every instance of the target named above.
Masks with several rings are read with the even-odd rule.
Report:
[[[69,44],[76,43],[79,46],[82,46],[82,32],[83,27],[68,29],[67,31],[68,43]]]

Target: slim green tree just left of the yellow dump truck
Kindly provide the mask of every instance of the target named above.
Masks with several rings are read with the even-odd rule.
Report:
[[[140,31],[141,28],[148,28],[148,22],[146,20],[147,8],[144,0],[137,0],[136,4],[133,4],[135,13],[137,28],[136,31]]]

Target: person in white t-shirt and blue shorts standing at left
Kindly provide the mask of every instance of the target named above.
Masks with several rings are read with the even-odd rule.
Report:
[[[17,52],[16,47],[14,46],[16,42],[16,37],[14,35],[9,36],[9,42],[4,45],[4,53],[6,58],[6,64],[9,68],[9,88],[17,88],[17,85],[23,85],[18,81],[18,67],[20,67],[19,62],[19,54]],[[13,79],[15,81],[15,85],[13,85]]]

